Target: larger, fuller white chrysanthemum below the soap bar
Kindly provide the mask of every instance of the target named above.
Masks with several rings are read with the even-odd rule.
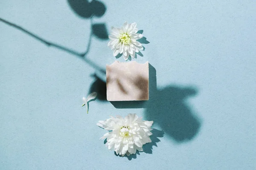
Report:
[[[128,114],[125,118],[117,115],[105,121],[99,121],[97,125],[109,130],[100,139],[107,138],[106,146],[121,156],[129,156],[136,151],[143,151],[143,144],[151,142],[150,127],[153,121],[142,121],[137,114]]]

